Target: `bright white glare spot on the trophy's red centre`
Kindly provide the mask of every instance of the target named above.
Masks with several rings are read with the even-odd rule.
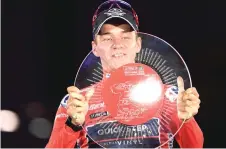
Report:
[[[129,97],[132,101],[141,104],[150,104],[160,99],[162,94],[162,83],[156,77],[139,82],[131,88]]]

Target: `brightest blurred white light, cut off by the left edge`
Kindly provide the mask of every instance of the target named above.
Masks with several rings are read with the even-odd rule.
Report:
[[[1,131],[14,132],[19,128],[19,116],[10,110],[1,110],[0,112]]]

